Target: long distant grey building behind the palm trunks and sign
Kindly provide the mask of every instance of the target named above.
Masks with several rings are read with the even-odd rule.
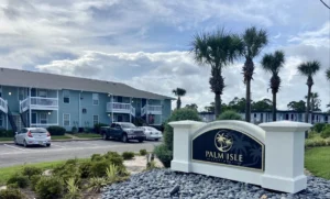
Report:
[[[245,119],[245,113],[240,113],[243,120]],[[213,112],[199,112],[199,117],[205,122],[211,122],[216,120],[216,115]],[[276,121],[288,120],[296,122],[305,122],[305,112],[299,111],[280,111],[278,110],[276,113]],[[251,113],[251,122],[252,123],[263,123],[263,122],[272,122],[273,113],[272,111],[258,111]],[[330,123],[330,114],[323,112],[314,112],[309,113],[309,123]]]

